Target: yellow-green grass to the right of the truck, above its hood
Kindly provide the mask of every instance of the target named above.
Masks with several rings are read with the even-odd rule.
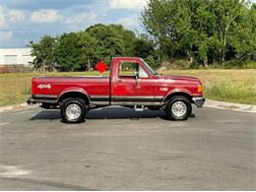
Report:
[[[164,75],[187,75],[199,78],[207,98],[246,104],[256,104],[256,70],[174,70]]]

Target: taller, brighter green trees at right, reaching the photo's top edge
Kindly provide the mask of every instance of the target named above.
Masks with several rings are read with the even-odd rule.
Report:
[[[161,59],[207,67],[256,60],[256,4],[245,0],[150,0],[142,24]]]

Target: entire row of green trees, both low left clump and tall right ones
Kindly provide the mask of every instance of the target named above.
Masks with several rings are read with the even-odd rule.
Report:
[[[99,60],[137,56],[158,68],[184,60],[190,68],[256,63],[256,4],[243,0],[150,0],[141,22],[147,33],[97,24],[83,32],[31,41],[35,68],[85,71]]]

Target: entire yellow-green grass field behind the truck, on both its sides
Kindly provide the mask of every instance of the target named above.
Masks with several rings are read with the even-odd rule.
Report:
[[[256,104],[256,70],[167,70],[163,75],[185,75],[199,78],[207,98]],[[31,80],[37,76],[89,76],[97,72],[17,73],[0,75],[0,106],[25,102],[31,95]],[[107,73],[105,74],[105,76]]]

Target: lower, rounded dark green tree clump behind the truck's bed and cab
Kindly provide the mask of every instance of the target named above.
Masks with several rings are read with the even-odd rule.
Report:
[[[114,56],[137,56],[153,66],[157,63],[153,40],[121,25],[97,24],[84,32],[44,35],[39,41],[31,41],[30,46],[34,67],[48,71],[91,70],[99,60],[109,64]]]

